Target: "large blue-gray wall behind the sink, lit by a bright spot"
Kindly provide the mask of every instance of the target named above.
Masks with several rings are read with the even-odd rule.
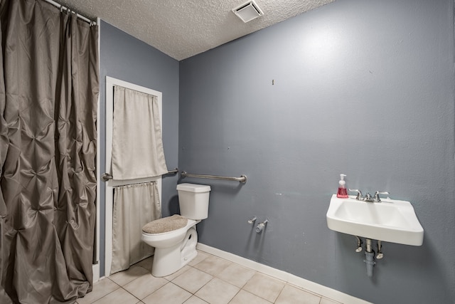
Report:
[[[181,61],[179,167],[248,177],[185,179],[212,185],[199,241],[373,303],[455,303],[454,88],[452,0],[338,0]],[[423,246],[384,243],[368,278],[327,228],[340,173],[411,201]]]

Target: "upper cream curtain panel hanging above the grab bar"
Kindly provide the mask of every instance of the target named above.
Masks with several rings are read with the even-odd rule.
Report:
[[[156,96],[114,86],[112,176],[139,179],[167,172]]]

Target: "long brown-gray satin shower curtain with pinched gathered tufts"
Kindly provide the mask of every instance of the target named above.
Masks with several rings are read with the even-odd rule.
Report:
[[[1,0],[0,303],[74,303],[92,288],[97,26]]]

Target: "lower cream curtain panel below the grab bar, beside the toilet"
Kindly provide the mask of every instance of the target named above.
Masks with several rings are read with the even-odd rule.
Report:
[[[111,274],[151,256],[154,248],[141,241],[142,226],[161,217],[156,182],[129,184],[114,190]]]

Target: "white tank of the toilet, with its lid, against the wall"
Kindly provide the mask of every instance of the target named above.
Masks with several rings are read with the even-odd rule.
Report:
[[[187,219],[207,219],[210,186],[205,184],[178,184],[180,214]]]

